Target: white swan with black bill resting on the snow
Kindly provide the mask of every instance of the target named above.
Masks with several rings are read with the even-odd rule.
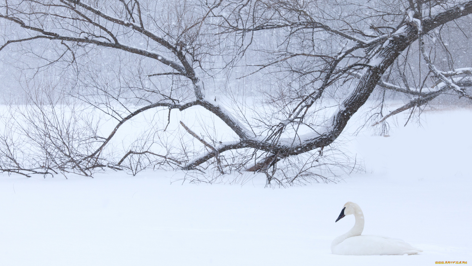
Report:
[[[331,243],[331,253],[337,255],[412,255],[422,250],[413,248],[402,239],[374,235],[361,235],[364,230],[364,214],[353,202],[344,204],[336,222],[346,215],[354,214],[354,227]]]

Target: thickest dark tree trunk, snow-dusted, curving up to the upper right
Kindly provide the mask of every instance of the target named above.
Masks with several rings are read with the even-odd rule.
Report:
[[[359,110],[359,108],[365,104],[385,71],[408,46],[418,39],[419,31],[418,26],[416,25],[417,22],[413,22],[413,20],[421,21],[422,33],[427,33],[449,21],[467,16],[471,13],[472,1],[458,4],[445,12],[439,13],[432,18],[423,19],[422,21],[418,14],[410,13],[413,15],[409,17],[410,21],[402,27],[399,27],[393,34],[375,40],[375,48],[372,48],[374,42],[365,42],[364,46],[369,50],[374,49],[375,53],[373,53],[369,58],[366,58],[365,66],[363,68],[364,73],[362,74],[361,79],[354,91],[342,103],[337,114],[333,116],[332,125],[326,133],[313,136],[312,138],[306,138],[301,142],[301,144],[295,146],[278,145],[277,143],[274,145],[274,143],[270,142],[241,139],[238,143],[220,147],[218,153],[240,148],[254,148],[267,151],[269,153],[267,157],[257,162],[254,166],[246,169],[247,171],[264,171],[273,166],[279,160],[289,156],[302,154],[307,151],[328,146],[337,139],[339,134],[341,134],[346,127],[347,122]],[[362,43],[360,45],[362,46]],[[204,156],[188,163],[184,169],[195,168],[214,156],[214,153],[205,154]]]

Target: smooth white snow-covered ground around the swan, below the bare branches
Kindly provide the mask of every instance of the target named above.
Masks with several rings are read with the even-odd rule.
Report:
[[[472,111],[429,112],[390,137],[351,137],[368,173],[338,184],[194,185],[182,173],[95,178],[0,176],[0,265],[275,266],[472,263]],[[339,256],[335,223],[353,201],[363,234],[401,238],[412,256]]]

